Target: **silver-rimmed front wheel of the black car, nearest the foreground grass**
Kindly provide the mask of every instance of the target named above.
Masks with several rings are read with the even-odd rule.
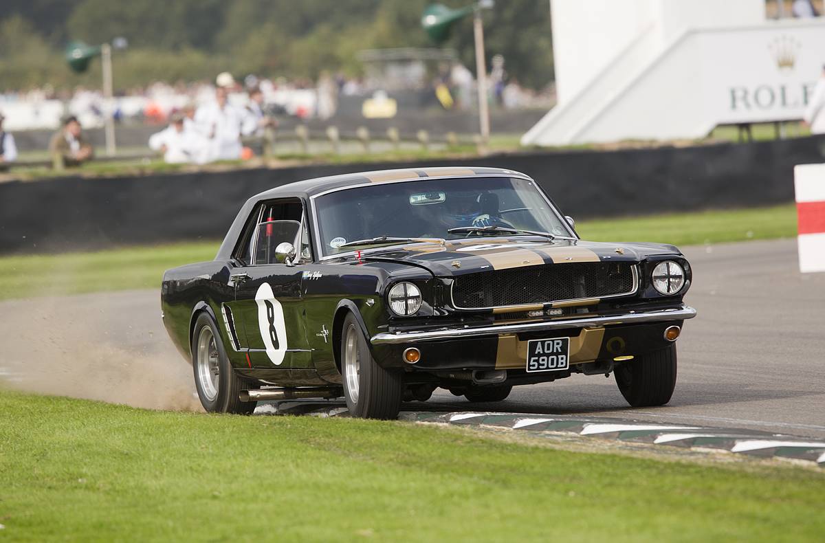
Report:
[[[398,418],[403,376],[400,371],[385,370],[375,362],[353,314],[347,314],[341,333],[341,373],[344,399],[352,417]]]

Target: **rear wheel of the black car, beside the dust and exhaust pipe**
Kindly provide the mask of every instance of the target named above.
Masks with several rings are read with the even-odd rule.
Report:
[[[210,314],[198,315],[191,347],[195,388],[207,413],[252,413],[256,402],[242,402],[238,398],[241,390],[250,386],[229,364],[218,325]]]

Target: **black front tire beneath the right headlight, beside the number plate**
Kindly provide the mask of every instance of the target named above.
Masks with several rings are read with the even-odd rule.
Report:
[[[621,395],[631,406],[667,404],[676,388],[676,345],[625,362],[613,373]]]

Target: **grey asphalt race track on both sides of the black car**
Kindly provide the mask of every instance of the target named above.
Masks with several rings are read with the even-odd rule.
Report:
[[[470,404],[439,390],[405,409],[633,418],[825,437],[825,273],[799,273],[795,240],[684,252],[694,267],[686,301],[699,315],[677,343],[679,375],[667,406],[628,408],[612,376],[573,375],[516,387],[497,404]],[[191,407],[191,373],[168,342],[158,298],[155,290],[133,290],[3,302],[0,330],[9,335],[0,378],[30,390]]]

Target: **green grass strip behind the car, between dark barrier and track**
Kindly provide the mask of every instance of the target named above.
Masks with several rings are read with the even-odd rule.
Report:
[[[794,205],[630,219],[582,220],[582,238],[691,245],[796,235]],[[158,288],[163,271],[214,258],[219,242],[120,248],[97,253],[0,257],[0,300],[97,290]]]

